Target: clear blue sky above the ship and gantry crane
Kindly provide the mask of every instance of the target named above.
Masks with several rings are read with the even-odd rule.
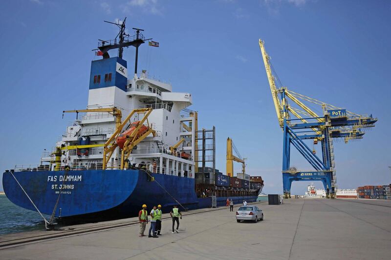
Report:
[[[140,47],[139,69],[191,93],[199,128],[216,126],[220,171],[231,137],[264,192],[282,193],[282,131],[262,39],[288,89],[378,118],[364,139],[334,141],[338,187],[391,182],[390,1],[3,0],[0,10],[1,172],[38,163],[73,120],[62,111],[87,106],[91,50],[117,34],[103,20],[127,17],[128,32],[143,28],[160,43]],[[124,59],[132,70],[133,48]],[[310,168],[294,151],[291,165]],[[291,193],[308,184],[293,182]]]

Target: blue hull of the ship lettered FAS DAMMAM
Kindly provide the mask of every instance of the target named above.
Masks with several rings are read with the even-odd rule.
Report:
[[[61,218],[133,217],[142,204],[147,204],[148,208],[161,204],[163,211],[167,212],[177,204],[175,200],[187,209],[212,205],[211,198],[197,198],[192,178],[151,174],[155,181],[150,181],[146,172],[138,169],[81,170],[67,174],[65,171],[22,171],[13,174],[41,213],[51,215],[56,208],[54,215]],[[11,172],[5,172],[2,181],[9,200],[36,211]],[[217,206],[225,205],[226,199],[217,198]],[[242,200],[253,202],[257,196],[230,199],[235,203]]]

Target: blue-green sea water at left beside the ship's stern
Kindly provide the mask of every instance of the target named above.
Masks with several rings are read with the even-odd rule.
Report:
[[[0,195],[0,235],[44,229],[45,223],[38,212],[21,208]]]

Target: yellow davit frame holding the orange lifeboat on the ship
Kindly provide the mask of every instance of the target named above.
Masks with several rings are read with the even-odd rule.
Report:
[[[109,168],[107,166],[109,159],[111,158],[112,154],[114,153],[115,148],[118,147],[118,144],[116,143],[117,137],[120,136],[122,129],[125,127],[125,125],[130,122],[130,118],[138,114],[138,116],[143,115],[142,119],[138,121],[137,126],[135,129],[131,132],[129,136],[126,136],[126,141],[124,143],[123,149],[121,150],[121,164],[119,167],[110,166],[110,168],[119,168],[123,170],[124,168],[128,168],[128,158],[130,156],[131,151],[133,150],[134,146],[136,146],[138,143],[140,143],[142,140],[144,140],[146,137],[148,137],[150,134],[152,134],[153,137],[156,136],[156,132],[151,128],[149,122],[148,122],[148,116],[151,114],[152,108],[139,108],[139,109],[133,109],[128,117],[120,123],[117,127],[115,132],[112,134],[112,136],[109,138],[109,140],[106,141],[104,144],[103,149],[103,169]],[[144,132],[141,136],[138,135],[138,132],[141,128],[141,126],[144,124],[144,122],[147,121],[147,131]]]

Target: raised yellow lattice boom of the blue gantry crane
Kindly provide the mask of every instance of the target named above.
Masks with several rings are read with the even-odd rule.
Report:
[[[263,41],[261,39],[260,39],[260,48],[261,48],[263,63],[265,64],[267,80],[269,80],[270,90],[272,92],[274,107],[276,109],[276,114],[277,114],[277,119],[279,121],[280,127],[282,127],[283,126],[283,118],[284,118],[282,105],[281,105],[280,100],[278,98],[278,90],[276,87],[276,81],[274,79],[274,76],[272,74],[272,70],[270,67],[270,62],[269,62],[270,57],[267,55]]]

